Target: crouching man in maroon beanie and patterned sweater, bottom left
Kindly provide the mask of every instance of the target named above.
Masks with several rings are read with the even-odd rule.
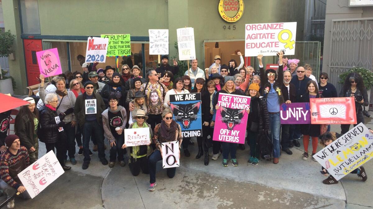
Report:
[[[3,189],[8,198],[16,192],[20,192],[23,199],[31,198],[26,188],[22,185],[18,174],[30,164],[28,150],[21,146],[17,135],[9,135],[5,138],[8,149],[0,155],[0,189]],[[14,199],[11,200],[8,208],[14,208]]]

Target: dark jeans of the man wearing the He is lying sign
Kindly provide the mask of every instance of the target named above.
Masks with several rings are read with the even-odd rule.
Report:
[[[83,155],[84,162],[90,162],[90,140],[91,136],[94,136],[97,141],[97,151],[98,158],[105,158],[105,149],[104,149],[104,129],[102,124],[98,124],[97,120],[94,121],[85,121],[82,126],[83,134]]]

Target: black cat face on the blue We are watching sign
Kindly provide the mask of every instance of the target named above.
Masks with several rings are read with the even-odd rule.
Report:
[[[197,120],[197,118],[201,118],[201,115],[198,115],[200,105],[201,102],[178,105],[171,104],[170,106],[173,111],[173,115],[175,115],[175,120],[180,122],[184,129],[188,129],[191,122]]]

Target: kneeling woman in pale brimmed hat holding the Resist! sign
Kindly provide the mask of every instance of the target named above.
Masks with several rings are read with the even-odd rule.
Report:
[[[133,116],[134,123],[129,126],[131,128],[149,128],[150,139],[153,136],[153,131],[151,131],[150,125],[145,122],[148,119],[148,116],[145,115],[144,110],[137,110],[136,114]],[[150,153],[151,141],[147,145],[140,145],[135,147],[129,147],[130,157],[128,160],[128,166],[131,170],[132,175],[138,176],[140,174],[140,169],[142,173],[149,174],[149,164],[148,164],[148,154]],[[125,149],[127,146],[123,144],[122,149]]]

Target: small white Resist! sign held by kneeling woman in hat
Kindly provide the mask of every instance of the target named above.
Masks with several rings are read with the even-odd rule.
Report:
[[[149,128],[124,129],[124,144],[127,147],[147,145],[150,143]]]

